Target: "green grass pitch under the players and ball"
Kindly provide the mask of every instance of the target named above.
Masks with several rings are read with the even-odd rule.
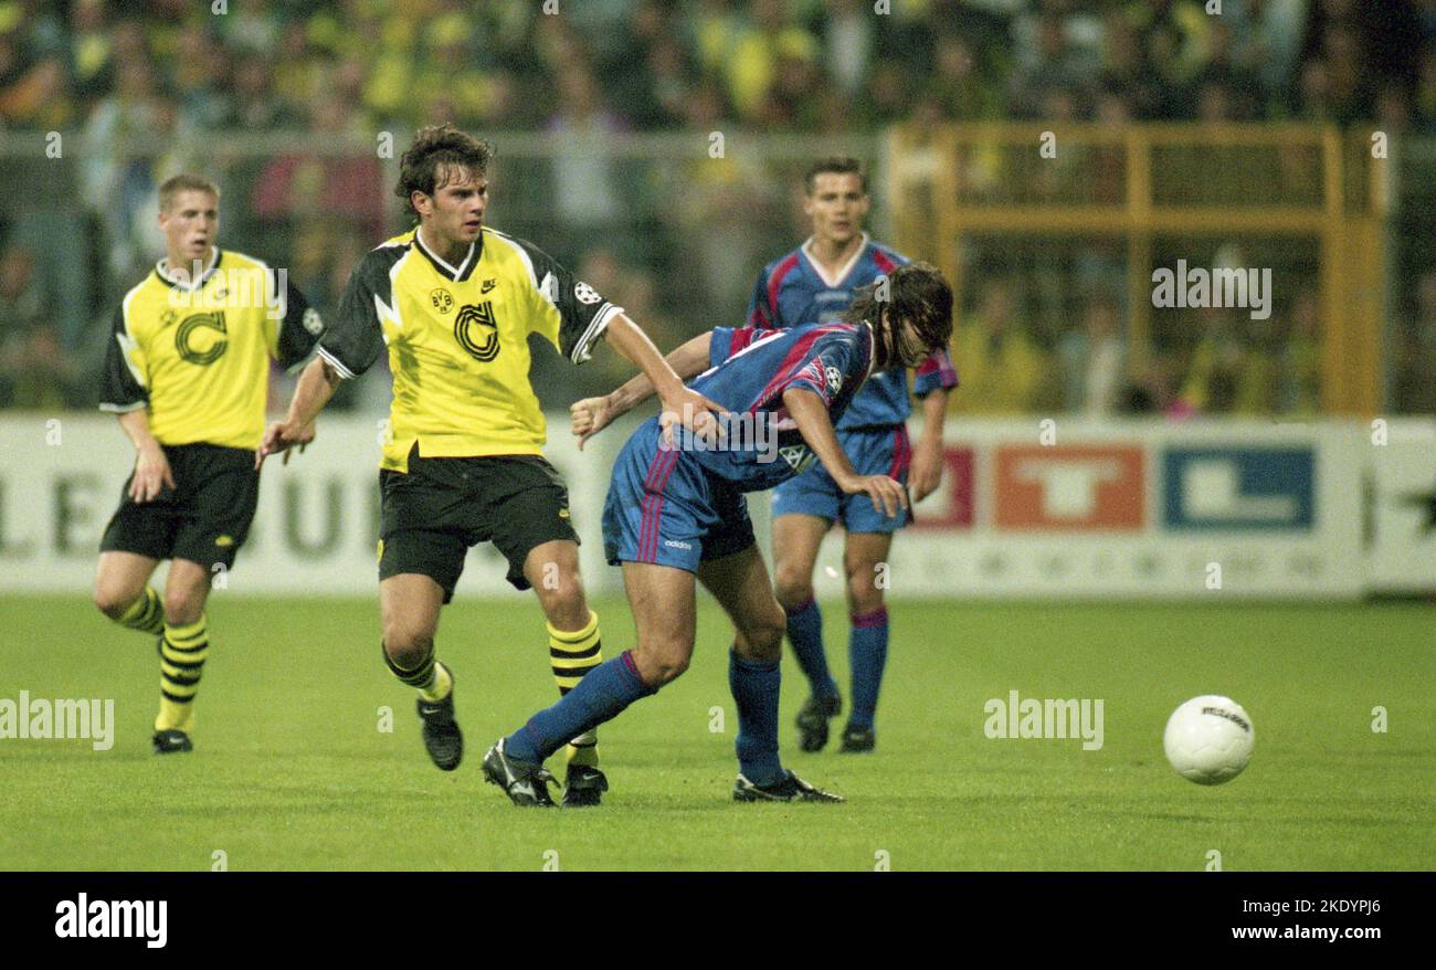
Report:
[[[632,619],[617,601],[596,608],[612,657]],[[1212,849],[1232,871],[1436,859],[1430,606],[898,602],[892,615],[873,756],[797,752],[806,685],[784,660],[784,762],[847,805],[729,800],[729,629],[705,602],[688,674],[600,731],[605,806],[534,812],[478,770],[500,733],[556,696],[531,598],[445,611],[439,651],[468,747],[441,773],[412,693],[381,662],[375,599],[217,593],[197,750],[161,759],[152,644],[78,598],[6,596],[0,698],[115,698],[116,726],[108,752],[0,740],[0,868],[208,869],[215,852],[234,871],[1202,869]],[[846,694],[846,618],[839,604],[824,618]],[[1101,698],[1104,746],[985,737],[984,703],[1011,690]],[[1235,697],[1256,729],[1246,772],[1211,789],[1162,754],[1167,714],[1203,693]]]

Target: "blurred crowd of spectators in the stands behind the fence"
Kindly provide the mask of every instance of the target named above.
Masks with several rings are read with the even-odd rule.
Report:
[[[841,137],[900,121],[1010,118],[1334,121],[1436,134],[1436,0],[1223,0],[1219,16],[1205,6],[559,0],[546,16],[537,0],[0,0],[0,139],[11,147],[0,174],[30,187],[0,207],[0,405],[90,402],[98,355],[85,351],[158,254],[154,187],[175,171],[218,165],[221,243],[284,259],[322,308],[365,249],[395,228],[370,154],[214,160],[210,135],[372,144],[375,132],[402,141],[435,119],[550,132],[569,147],[543,174],[563,230],[536,239],[676,342],[702,325],[696,305],[725,319],[741,313],[757,269],[801,228],[781,187],[734,170],[717,183],[681,175],[681,193],[646,185],[673,201],[652,204],[652,220],[597,247],[593,228],[626,216],[629,187],[645,180],[584,152],[589,139],[729,129]],[[13,148],[23,132],[75,132],[98,148],[56,180],[39,149]],[[149,151],[134,154],[136,144]],[[505,227],[523,231],[518,221]],[[86,241],[76,254],[53,239]],[[696,300],[656,283],[684,279],[684,292]],[[1413,374],[1393,378],[1410,395],[1399,398],[1406,410],[1436,408],[1419,369],[1429,375],[1436,359],[1427,293],[1436,277],[1417,276],[1403,308],[1416,322],[1400,338],[1409,343],[1400,366]],[[1310,302],[1282,308],[1269,333],[1213,319],[1129,387],[1119,296],[1083,299],[1055,332],[1028,325],[1032,296],[1014,280],[976,292],[959,319],[956,405],[1315,408]]]

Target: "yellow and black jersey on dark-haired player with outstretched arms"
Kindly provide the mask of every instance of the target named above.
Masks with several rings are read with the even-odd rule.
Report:
[[[355,269],[319,354],[352,378],[388,345],[393,405],[381,467],[406,471],[415,443],[425,457],[540,454],[528,335],[582,364],[622,312],[533,243],[484,228],[451,266],[409,230]]]

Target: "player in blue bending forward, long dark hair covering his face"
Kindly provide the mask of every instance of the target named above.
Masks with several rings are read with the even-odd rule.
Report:
[[[854,471],[839,444],[840,420],[869,374],[919,364],[952,335],[952,290],[936,269],[895,269],[889,300],[879,285],[857,290],[853,323],[811,325],[764,333],[718,328],[694,338],[669,361],[685,377],[707,371],[694,391],[717,401],[729,430],[721,450],[679,430],[666,440],[672,415],[645,421],[623,445],[603,507],[609,563],[623,563],[638,644],[590,671],[553,707],[503,737],[484,756],[484,775],[516,805],[551,806],[543,762],[573,734],[616,717],[688,668],[694,651],[694,578],[732,619],[728,685],[738,710],[740,802],[841,802],[813,787],[778,760],[778,683],[783,608],[754,543],[744,493],[771,489],[813,463],[829,470],[844,496],[866,496],[883,514],[902,514],[903,487],[885,474]],[[646,399],[652,388],[635,378],[613,394],[573,405],[573,431],[586,440]],[[775,447],[745,447],[734,428],[768,425]],[[580,441],[582,444],[582,441]]]

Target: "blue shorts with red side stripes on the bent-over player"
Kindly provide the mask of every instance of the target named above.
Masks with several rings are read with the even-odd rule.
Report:
[[[658,418],[633,433],[613,463],[603,503],[609,565],[652,562],[698,572],[754,545],[748,502],[689,451],[659,447]]]

